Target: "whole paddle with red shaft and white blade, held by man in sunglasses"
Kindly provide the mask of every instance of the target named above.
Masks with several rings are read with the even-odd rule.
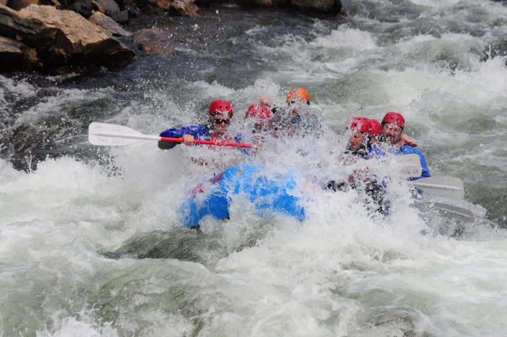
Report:
[[[105,146],[124,146],[141,141],[160,141],[183,143],[183,138],[168,138],[159,136],[148,136],[139,131],[132,130],[126,126],[117,124],[106,124],[92,122],[88,126],[88,141],[93,145]],[[196,144],[218,145],[218,146],[235,146],[243,148],[251,148],[250,144],[228,143],[228,142],[212,142],[195,140]]]

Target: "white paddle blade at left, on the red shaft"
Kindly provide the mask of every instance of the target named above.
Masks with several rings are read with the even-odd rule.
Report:
[[[159,140],[156,136],[146,136],[129,127],[92,122],[88,126],[88,141],[93,145],[124,146],[144,140]]]

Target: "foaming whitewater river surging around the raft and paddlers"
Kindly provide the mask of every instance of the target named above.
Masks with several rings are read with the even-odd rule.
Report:
[[[174,55],[89,75],[0,76],[0,336],[507,336],[507,7],[486,0],[344,1],[310,18],[235,6],[167,27]],[[305,88],[319,137],[255,158],[156,142],[92,146],[88,125],[146,134],[205,122],[231,132],[267,94]],[[372,215],[337,163],[351,115],[402,113],[434,176],[464,182],[474,224],[413,205],[400,181]],[[243,129],[244,132],[244,129]],[[195,158],[208,165],[198,165]],[[307,218],[181,226],[199,182],[243,162],[292,170]],[[442,201],[442,200],[441,200]]]

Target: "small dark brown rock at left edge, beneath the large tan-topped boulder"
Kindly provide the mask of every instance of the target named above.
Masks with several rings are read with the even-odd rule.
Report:
[[[42,62],[33,48],[24,43],[0,36],[0,71],[42,68]]]

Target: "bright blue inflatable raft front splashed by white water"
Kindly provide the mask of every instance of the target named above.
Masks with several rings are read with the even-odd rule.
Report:
[[[197,186],[180,208],[183,224],[195,228],[207,215],[216,219],[229,217],[232,196],[249,200],[265,216],[272,212],[305,219],[295,188],[295,175],[286,169],[265,172],[263,165],[239,165],[228,168]]]

